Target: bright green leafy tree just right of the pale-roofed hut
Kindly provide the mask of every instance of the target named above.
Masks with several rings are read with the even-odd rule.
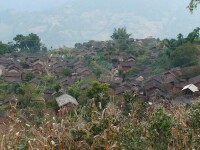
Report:
[[[92,87],[87,91],[87,96],[93,98],[98,109],[104,109],[110,101],[108,95],[108,85],[100,82],[93,82]]]

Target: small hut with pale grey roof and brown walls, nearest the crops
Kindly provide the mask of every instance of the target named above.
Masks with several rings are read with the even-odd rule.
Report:
[[[78,105],[77,100],[68,94],[62,94],[57,97],[56,102],[59,107],[58,113],[61,116],[65,115],[68,111],[74,109]]]

